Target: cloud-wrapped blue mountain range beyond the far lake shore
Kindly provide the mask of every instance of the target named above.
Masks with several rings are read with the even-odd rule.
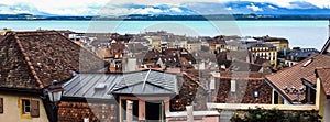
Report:
[[[73,10],[74,11],[74,10]],[[38,10],[31,4],[0,4],[0,14],[34,14],[44,16],[86,16],[86,15],[128,15],[128,14],[152,14],[152,15],[200,15],[200,14],[262,14],[262,15],[330,15],[329,7],[316,7],[309,2],[290,2],[289,7],[279,7],[270,2],[194,2],[179,5],[157,4],[121,4],[116,7],[89,5],[80,13],[51,13]]]

